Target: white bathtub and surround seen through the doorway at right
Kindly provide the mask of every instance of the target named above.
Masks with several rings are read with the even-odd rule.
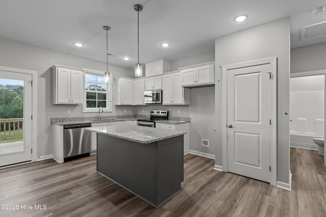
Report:
[[[290,79],[290,146],[317,150],[324,137],[324,75]]]

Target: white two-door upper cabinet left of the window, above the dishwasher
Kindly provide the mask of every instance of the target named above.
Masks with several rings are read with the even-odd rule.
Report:
[[[53,104],[82,104],[84,70],[52,66]]]

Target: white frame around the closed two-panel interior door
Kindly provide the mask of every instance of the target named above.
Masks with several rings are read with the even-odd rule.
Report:
[[[232,69],[251,67],[263,64],[270,64],[272,79],[270,82],[270,113],[271,125],[269,128],[269,165],[271,166],[269,183],[277,185],[277,57],[258,59],[222,66],[222,167],[223,171],[228,171],[227,163],[227,71]]]

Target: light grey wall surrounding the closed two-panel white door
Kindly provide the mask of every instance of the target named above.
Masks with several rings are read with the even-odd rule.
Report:
[[[278,58],[277,180],[289,183],[289,18],[276,20],[215,40],[215,164],[222,166],[222,70],[220,66]]]

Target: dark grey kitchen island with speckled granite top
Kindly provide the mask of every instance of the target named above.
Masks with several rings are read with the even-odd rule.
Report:
[[[181,190],[183,135],[141,126],[85,128],[97,133],[97,172],[159,207]]]

